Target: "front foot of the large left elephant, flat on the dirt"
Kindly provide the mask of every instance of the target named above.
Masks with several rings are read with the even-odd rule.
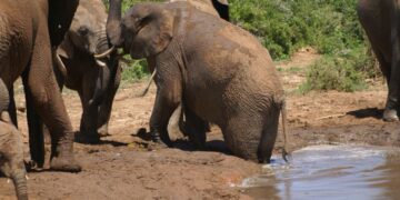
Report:
[[[80,172],[82,168],[73,157],[54,157],[51,159],[50,169],[53,171]]]

